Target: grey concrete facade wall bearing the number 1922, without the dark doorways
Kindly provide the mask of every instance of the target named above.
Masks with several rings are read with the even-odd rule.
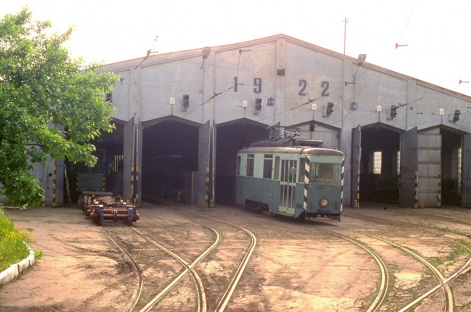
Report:
[[[401,174],[388,169],[386,171],[391,172],[382,179],[373,177],[371,185],[387,193],[389,187],[381,185],[391,177],[397,178],[399,190],[394,185],[391,189],[398,193],[393,197],[398,198],[401,206],[420,205],[422,201],[428,206],[442,205],[441,171],[447,171],[442,158],[448,158],[442,152],[446,147],[442,135],[458,136],[454,140],[460,143],[450,148],[460,145],[457,151],[461,159],[469,157],[465,137],[471,129],[471,119],[466,113],[471,106],[470,97],[368,62],[359,66],[356,58],[286,35],[212,47],[207,58],[203,58],[202,49],[195,49],[108,64],[104,70],[122,79],[115,86],[112,103],[118,108],[113,116],[115,121],[125,125],[123,196],[127,198],[132,197],[132,192],[140,192],[139,183],[145,170],[138,164],[142,163],[142,149],[145,150],[149,139],[142,141],[139,136],[147,127],[162,122],[177,122],[198,131],[198,168],[193,171],[197,189],[195,202],[201,207],[211,206],[214,198],[218,199],[215,180],[227,181],[225,187],[231,185],[234,152],[224,155],[224,142],[220,139],[234,124],[239,127],[235,132],[240,133],[232,131],[232,136],[228,134],[223,141],[245,141],[240,137],[247,125],[260,129],[262,137],[267,136],[266,127],[277,125],[298,127],[303,130],[300,138],[322,140],[326,146],[340,149],[346,155],[346,207],[354,206],[355,200],[360,198],[358,177],[371,177],[367,174],[369,164],[361,156],[361,150],[367,146],[371,151],[387,150],[388,162],[398,152],[397,161],[393,159],[391,166],[400,166]],[[183,95],[189,96],[186,109],[181,106]],[[255,109],[256,99],[262,101],[259,111]],[[328,103],[334,104],[330,115],[326,112]],[[394,117],[391,116],[392,105],[397,106]],[[460,119],[453,122],[457,109],[461,110]],[[366,136],[364,129],[370,131]],[[369,134],[380,131],[397,141],[395,147],[380,148],[386,137],[384,140],[378,137],[368,145]],[[415,133],[413,138],[418,138],[416,143],[406,140],[405,134],[409,131]],[[354,139],[356,132],[361,137],[358,141]],[[249,141],[254,139],[251,137]],[[128,142],[133,142],[131,149],[127,147]],[[404,153],[407,149],[416,150],[415,160],[407,158],[410,156]],[[469,169],[464,163],[468,165],[468,162],[457,161],[451,159],[449,163],[450,166],[461,165],[462,176],[456,176],[460,170],[453,173],[450,169],[446,174],[454,181],[451,184],[459,184],[459,190],[450,192],[466,197],[463,193],[470,191]],[[132,164],[137,166],[139,181],[134,189],[130,187]],[[415,171],[418,171],[417,177]],[[419,180],[416,194],[410,189],[416,184],[411,179],[412,182]],[[138,196],[137,201],[140,199]],[[460,198],[459,205],[469,204]]]

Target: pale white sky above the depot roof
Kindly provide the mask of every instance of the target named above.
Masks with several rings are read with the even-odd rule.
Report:
[[[90,62],[285,34],[471,96],[471,0],[0,0],[28,6]],[[158,36],[157,40],[156,37]],[[408,45],[395,49],[395,44]],[[469,83],[459,84],[459,81]]]

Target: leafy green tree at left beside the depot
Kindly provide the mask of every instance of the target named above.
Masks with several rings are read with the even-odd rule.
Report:
[[[69,56],[72,28],[50,28],[27,8],[0,21],[0,195],[19,204],[44,202],[34,163],[50,156],[93,166],[90,142],[114,129],[104,99],[117,76]]]

